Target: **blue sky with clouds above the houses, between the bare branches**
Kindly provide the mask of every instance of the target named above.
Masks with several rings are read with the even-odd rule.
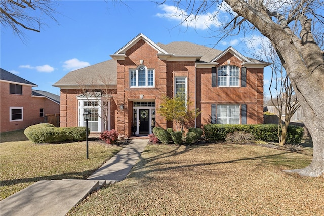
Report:
[[[201,16],[196,28],[187,27],[180,25],[181,17],[171,17],[176,13],[172,2],[124,2],[127,6],[110,1],[61,1],[55,15],[57,22],[46,18],[47,26],[42,27],[41,33],[24,31],[25,40],[2,27],[1,68],[37,84],[34,89],[59,95],[59,88],[52,84],[71,70],[111,59],[110,54],[139,33],[163,44],[189,41],[219,50],[233,46],[252,57],[245,52],[249,45],[242,42],[241,35],[220,42],[211,37],[208,27],[217,28],[218,21],[208,20],[208,15]],[[253,41],[257,43],[258,38]],[[264,75],[266,91],[271,76],[269,67]]]

